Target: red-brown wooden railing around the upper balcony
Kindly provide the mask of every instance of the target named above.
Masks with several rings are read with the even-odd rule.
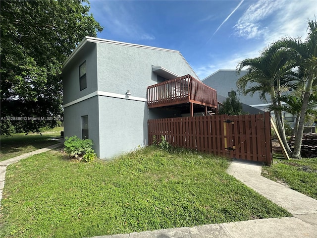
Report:
[[[189,74],[148,87],[149,108],[188,102],[216,107],[216,90]]]

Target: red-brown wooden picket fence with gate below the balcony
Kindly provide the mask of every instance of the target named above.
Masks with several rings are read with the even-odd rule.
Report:
[[[271,163],[270,114],[148,120],[149,145],[164,136],[176,147]]]

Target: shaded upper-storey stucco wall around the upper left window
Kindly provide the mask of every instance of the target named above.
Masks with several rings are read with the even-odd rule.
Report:
[[[79,65],[86,60],[87,88],[79,91]],[[62,70],[63,104],[97,91],[97,50],[95,43],[87,43]]]

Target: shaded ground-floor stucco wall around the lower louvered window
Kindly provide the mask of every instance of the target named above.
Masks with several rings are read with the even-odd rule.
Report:
[[[64,137],[82,138],[82,117],[88,116],[89,139],[94,142],[94,150],[99,155],[99,112],[98,96],[64,108]]]

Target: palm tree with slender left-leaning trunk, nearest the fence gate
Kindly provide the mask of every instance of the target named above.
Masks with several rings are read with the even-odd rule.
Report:
[[[259,92],[260,99],[266,102],[266,94],[268,94],[272,106],[277,108],[281,105],[281,102],[277,100],[277,97],[281,95],[281,83],[282,85],[285,83],[287,75],[294,67],[294,61],[290,59],[294,59],[294,52],[281,47],[280,42],[275,42],[264,48],[260,57],[242,60],[237,67],[238,73],[246,66],[249,67],[249,71],[238,79],[238,89],[244,95],[250,93],[252,96],[255,92]],[[274,115],[282,142],[287,153],[291,155],[292,151],[287,143],[281,114],[278,110],[274,110]]]

